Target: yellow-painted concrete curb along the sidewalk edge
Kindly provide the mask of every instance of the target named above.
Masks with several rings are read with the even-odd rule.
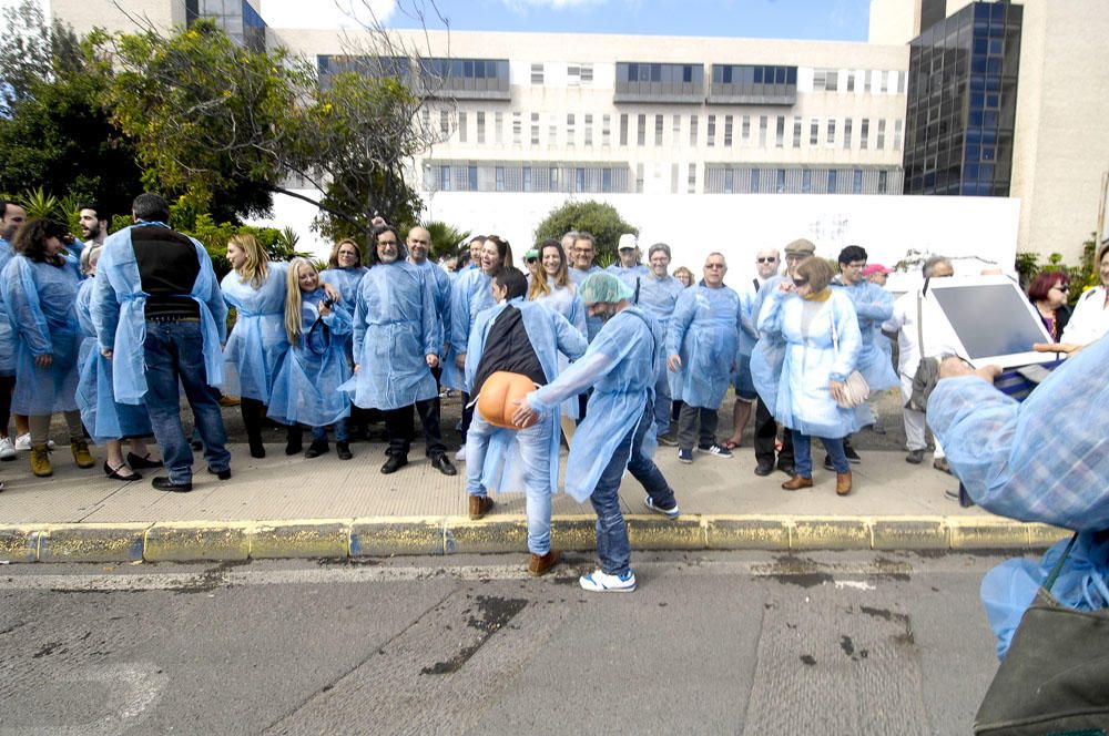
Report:
[[[629,514],[639,550],[1041,550],[1068,531],[997,517]],[[554,545],[594,549],[596,519],[552,520]],[[523,517],[0,525],[6,562],[195,562],[523,552]]]

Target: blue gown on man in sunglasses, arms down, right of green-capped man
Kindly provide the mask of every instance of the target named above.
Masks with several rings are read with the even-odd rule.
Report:
[[[718,409],[735,361],[740,297],[726,286],[692,286],[678,297],[667,333],[669,355],[681,356],[671,392],[691,407]]]

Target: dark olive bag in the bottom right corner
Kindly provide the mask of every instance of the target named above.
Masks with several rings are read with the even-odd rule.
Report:
[[[976,735],[1109,733],[1109,609],[1077,611],[1051,595],[1077,540],[1020,619],[975,716]]]

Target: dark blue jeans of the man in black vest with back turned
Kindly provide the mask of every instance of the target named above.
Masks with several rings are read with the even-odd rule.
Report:
[[[177,385],[193,410],[193,419],[204,441],[208,468],[220,472],[231,467],[224,444],[227,433],[220,411],[220,392],[207,385],[204,369],[204,336],[199,321],[146,321],[143,344],[146,361],[146,411],[154,439],[174,483],[193,480],[193,450],[181,426]]]

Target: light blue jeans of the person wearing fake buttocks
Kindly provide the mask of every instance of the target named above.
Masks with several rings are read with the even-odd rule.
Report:
[[[466,492],[470,495],[486,495],[488,489],[481,483],[489,438],[494,427],[481,415],[475,412],[470,432],[466,438]],[[507,469],[506,477],[522,477],[525,511],[528,517],[528,551],[547,554],[551,550],[551,432],[557,431],[549,417],[540,419],[527,429],[516,430],[520,446],[519,469]],[[511,472],[519,470],[522,472]],[[518,491],[518,488],[501,488],[500,491]]]

